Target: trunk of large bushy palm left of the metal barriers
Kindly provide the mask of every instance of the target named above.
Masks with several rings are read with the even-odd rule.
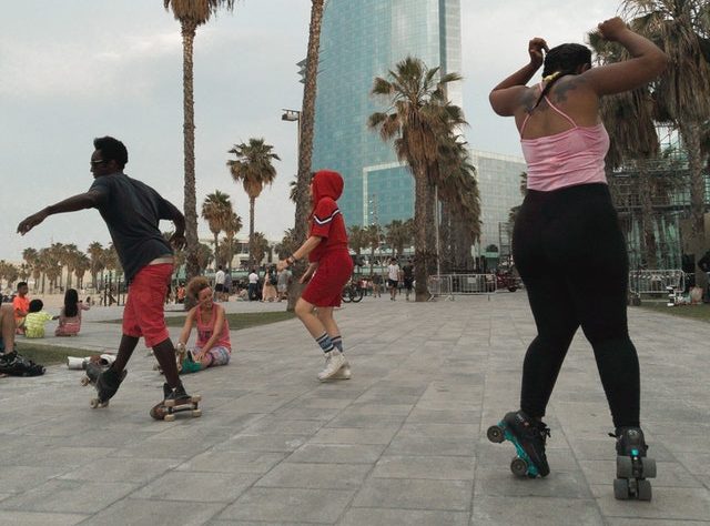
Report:
[[[429,181],[423,166],[414,169],[414,279],[416,280],[415,299],[417,302],[429,300],[428,265],[429,250],[427,219],[432,216],[428,200]]]

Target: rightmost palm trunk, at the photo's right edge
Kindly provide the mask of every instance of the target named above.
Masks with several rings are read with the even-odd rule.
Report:
[[[702,173],[702,158],[700,154],[700,124],[694,121],[680,120],[680,134],[682,135],[686,150],[688,151],[688,169],[690,171],[690,215],[692,223],[691,241],[689,243],[691,253],[696,254],[696,262],[702,257],[707,247],[704,211],[706,211],[706,185]],[[708,276],[696,265],[696,284],[706,287]]]

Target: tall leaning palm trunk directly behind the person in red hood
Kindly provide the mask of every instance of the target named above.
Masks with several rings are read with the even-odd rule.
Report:
[[[311,200],[308,185],[311,183],[311,163],[313,159],[313,134],[315,120],[316,77],[318,72],[318,55],[321,51],[321,26],[323,23],[324,0],[312,0],[311,26],[308,31],[308,51],[306,54],[306,78],[303,89],[303,105],[298,118],[298,175],[296,179],[296,213],[293,225],[293,239],[297,245],[303,243],[307,234],[308,212]],[[303,286],[298,280],[292,280],[288,286],[287,310],[294,310],[301,297]]]

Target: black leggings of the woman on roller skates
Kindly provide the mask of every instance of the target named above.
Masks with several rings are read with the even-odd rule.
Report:
[[[538,335],[520,408],[541,417],[577,327],[591,343],[616,427],[639,425],[639,361],[626,317],[626,243],[606,184],[528,191],[513,234]]]

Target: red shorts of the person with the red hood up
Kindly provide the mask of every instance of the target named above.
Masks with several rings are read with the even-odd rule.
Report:
[[[352,274],[353,259],[346,251],[326,253],[301,297],[315,306],[341,306],[343,287]]]

